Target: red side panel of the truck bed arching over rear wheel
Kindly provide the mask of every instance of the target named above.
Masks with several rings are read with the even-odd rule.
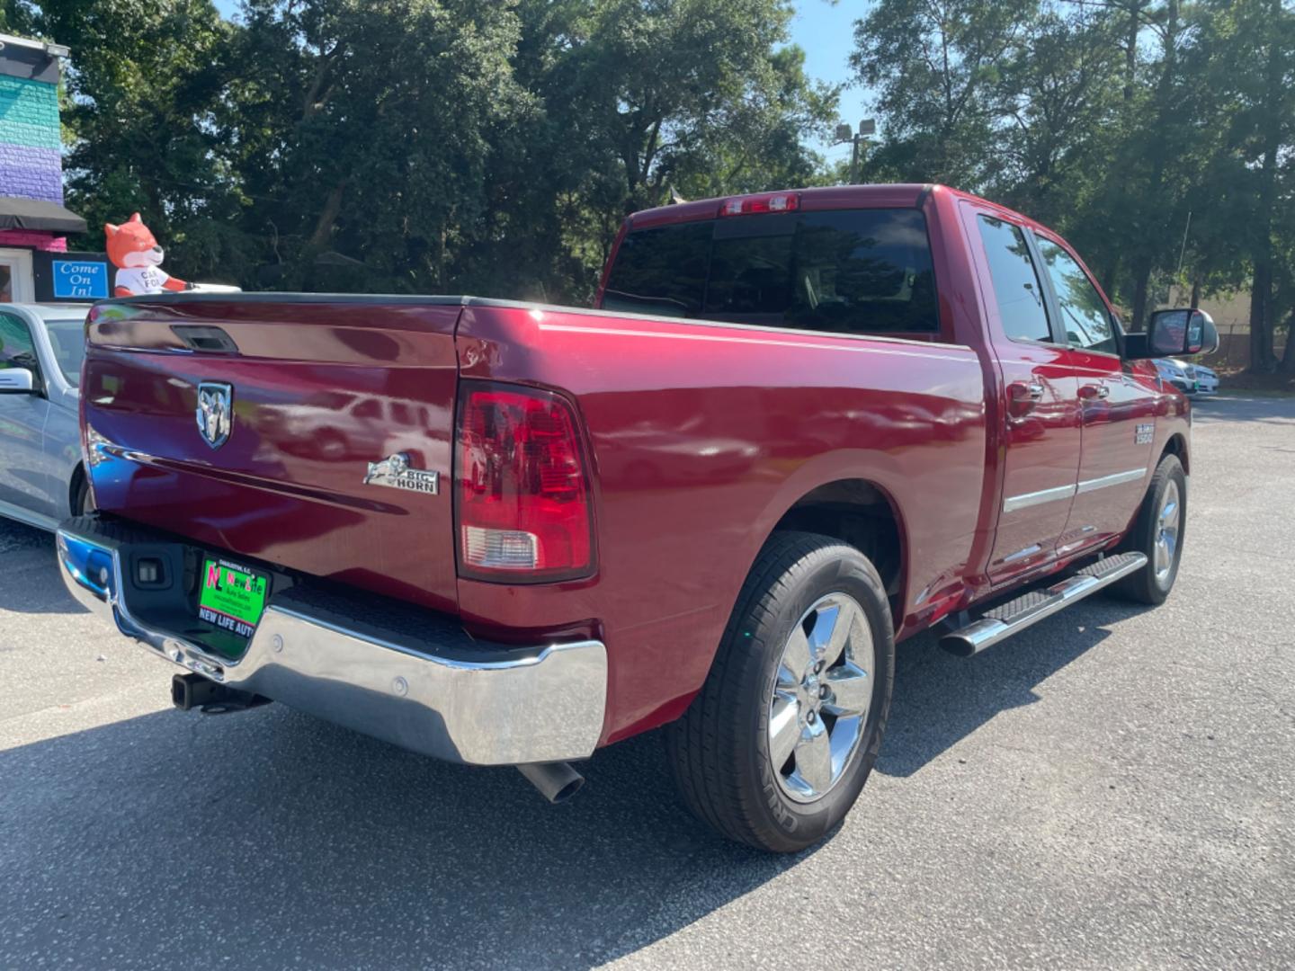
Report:
[[[600,546],[588,581],[461,579],[460,608],[483,632],[596,619],[609,741],[699,687],[756,553],[805,500],[884,504],[906,552],[887,577],[896,621],[963,590],[985,462],[967,347],[478,303],[456,340],[465,379],[572,397]]]

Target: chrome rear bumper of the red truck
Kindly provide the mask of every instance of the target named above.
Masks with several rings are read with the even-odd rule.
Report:
[[[231,660],[131,611],[131,533],[95,517],[63,523],[63,583],[188,671],[448,761],[566,761],[598,743],[607,687],[600,641],[486,645],[427,611],[385,623],[374,598],[291,586],[272,593],[246,653]]]

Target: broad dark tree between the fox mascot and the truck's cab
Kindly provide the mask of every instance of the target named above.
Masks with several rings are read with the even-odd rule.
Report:
[[[286,287],[443,290],[487,208],[492,135],[524,102],[517,17],[465,0],[249,0],[218,123]]]

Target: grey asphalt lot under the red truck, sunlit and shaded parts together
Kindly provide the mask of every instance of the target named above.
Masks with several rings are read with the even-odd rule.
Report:
[[[820,847],[729,845],[655,734],[545,804],[172,668],[0,523],[0,968],[1295,967],[1295,400],[1197,404],[1168,603],[900,646]]]

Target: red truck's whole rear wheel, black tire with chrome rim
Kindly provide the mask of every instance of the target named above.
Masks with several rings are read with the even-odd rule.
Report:
[[[894,672],[890,603],[868,558],[826,536],[778,533],[701,693],[666,728],[688,808],[760,849],[818,842],[873,769]]]

